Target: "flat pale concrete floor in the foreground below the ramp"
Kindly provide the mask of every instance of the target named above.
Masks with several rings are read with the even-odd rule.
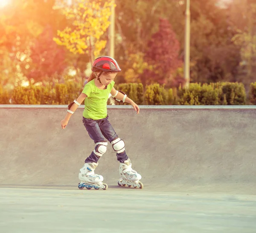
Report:
[[[0,188],[2,233],[255,233],[256,196],[108,190]]]

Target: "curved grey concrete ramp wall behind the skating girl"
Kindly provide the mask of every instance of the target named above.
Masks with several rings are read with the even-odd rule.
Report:
[[[76,189],[94,143],[83,106],[66,129],[67,106],[0,105],[0,187]],[[142,176],[144,190],[256,193],[256,108],[250,106],[108,106],[111,124]],[[111,146],[96,173],[119,188]]]

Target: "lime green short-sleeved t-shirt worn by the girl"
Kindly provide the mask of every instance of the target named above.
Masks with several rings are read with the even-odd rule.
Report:
[[[84,100],[84,118],[99,120],[107,117],[108,96],[114,84],[115,82],[112,81],[107,89],[101,90],[96,87],[94,79],[86,83],[82,91],[87,95]]]

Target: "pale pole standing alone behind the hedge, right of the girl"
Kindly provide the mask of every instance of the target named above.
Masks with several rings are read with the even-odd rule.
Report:
[[[186,0],[186,27],[185,27],[185,57],[184,57],[184,78],[185,88],[189,88],[190,83],[190,0]]]

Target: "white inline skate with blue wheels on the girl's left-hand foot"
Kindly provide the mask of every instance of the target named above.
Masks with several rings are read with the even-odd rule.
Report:
[[[85,163],[84,167],[80,169],[78,175],[79,179],[81,180],[81,182],[78,184],[79,189],[83,189],[84,187],[87,189],[108,189],[108,184],[102,183],[103,176],[94,174],[94,170],[97,166],[98,163]]]

